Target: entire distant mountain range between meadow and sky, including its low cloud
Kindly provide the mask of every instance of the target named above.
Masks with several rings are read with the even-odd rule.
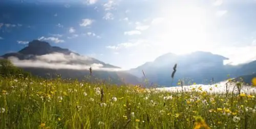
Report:
[[[69,49],[52,47],[48,42],[40,40],[33,40],[29,42],[28,47],[1,57],[8,58],[15,66],[41,77],[46,77],[46,74],[50,73],[60,74],[62,78],[82,80],[90,75],[89,68],[92,67],[94,80],[96,78],[112,80],[116,84],[141,83],[145,79],[142,70],[149,83],[165,87],[177,85],[179,79],[183,80],[184,84],[194,82],[208,84],[211,81],[223,81],[229,75],[231,78],[243,77],[247,83],[250,83],[251,78],[256,76],[256,61],[238,66],[223,65],[227,57],[202,51],[186,55],[167,53],[129,71],[120,71],[119,67],[79,55]],[[177,72],[172,81],[171,74],[176,63]]]

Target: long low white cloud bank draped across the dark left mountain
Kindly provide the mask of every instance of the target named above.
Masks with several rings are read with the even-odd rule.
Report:
[[[71,70],[89,70],[92,67],[96,71],[120,71],[116,68],[104,68],[101,63],[94,63],[93,59],[87,56],[80,56],[74,53],[65,55],[62,53],[52,53],[35,56],[31,60],[19,60],[16,57],[8,59],[17,66],[22,68],[47,68],[47,69],[71,69]],[[81,63],[83,61],[83,63]]]

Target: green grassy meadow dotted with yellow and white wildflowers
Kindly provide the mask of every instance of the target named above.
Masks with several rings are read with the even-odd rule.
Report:
[[[0,77],[0,128],[254,128],[253,95]]]

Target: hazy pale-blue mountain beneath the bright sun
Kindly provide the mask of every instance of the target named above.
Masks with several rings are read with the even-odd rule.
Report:
[[[256,72],[256,61],[239,66],[223,65],[227,57],[212,54],[210,52],[193,52],[185,55],[176,55],[167,53],[159,56],[152,62],[146,62],[144,65],[131,69],[129,73],[142,78],[142,70],[150,82],[170,87],[176,85],[179,79],[189,83],[207,84],[210,81],[218,82],[230,77],[252,74]],[[174,82],[172,83],[171,74],[173,67],[177,63]]]

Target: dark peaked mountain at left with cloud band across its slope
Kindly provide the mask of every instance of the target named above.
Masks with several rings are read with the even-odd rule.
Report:
[[[86,79],[111,79],[116,84],[139,83],[139,79],[119,67],[104,63],[92,57],[82,56],[69,49],[53,47],[46,41],[33,40],[24,49],[2,55],[0,58],[10,59],[12,63],[23,68],[33,75],[46,77],[60,74],[62,78]]]

